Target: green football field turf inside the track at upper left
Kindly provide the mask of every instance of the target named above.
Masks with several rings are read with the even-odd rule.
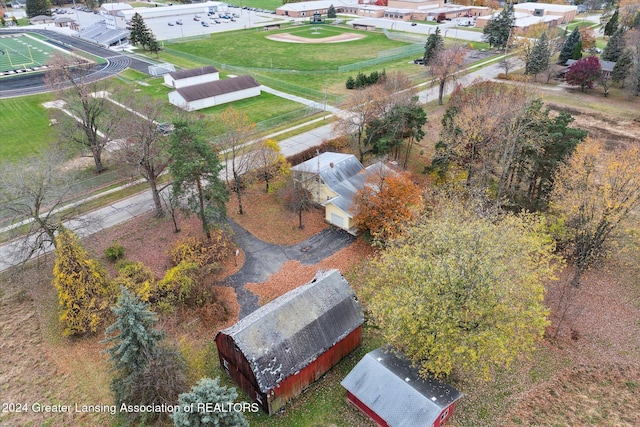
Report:
[[[54,48],[29,35],[0,38],[0,71],[45,65]]]

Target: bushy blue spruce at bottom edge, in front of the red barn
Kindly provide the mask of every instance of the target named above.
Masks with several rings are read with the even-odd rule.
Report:
[[[206,412],[198,409],[199,403],[222,403],[228,405],[238,397],[236,389],[221,386],[218,378],[202,378],[188,393],[182,393],[178,398],[180,408],[190,406],[190,412],[182,409],[171,415],[176,427],[249,427],[242,412],[239,411],[213,411]]]

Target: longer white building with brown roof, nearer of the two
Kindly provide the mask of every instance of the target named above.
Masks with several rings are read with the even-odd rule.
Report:
[[[169,92],[169,102],[195,111],[240,99],[260,96],[260,83],[246,75],[182,87]]]

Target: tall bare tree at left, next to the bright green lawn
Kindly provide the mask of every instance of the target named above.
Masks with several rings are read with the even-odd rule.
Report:
[[[105,169],[103,151],[117,130],[124,110],[102,96],[109,86],[106,80],[92,81],[94,65],[77,56],[54,55],[45,81],[57,91],[59,108],[64,112],[56,114],[61,139],[91,150],[96,172],[101,173]]]

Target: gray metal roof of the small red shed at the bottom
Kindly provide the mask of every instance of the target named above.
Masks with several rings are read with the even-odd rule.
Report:
[[[388,348],[367,353],[340,384],[396,427],[431,425],[462,397],[448,384],[421,378],[411,362]]]

